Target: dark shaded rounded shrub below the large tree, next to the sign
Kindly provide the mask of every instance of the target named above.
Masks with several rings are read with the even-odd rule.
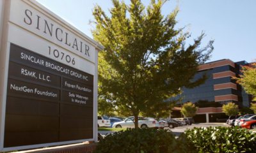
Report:
[[[93,153],[168,153],[185,152],[183,143],[163,129],[127,129],[108,135],[100,141]]]

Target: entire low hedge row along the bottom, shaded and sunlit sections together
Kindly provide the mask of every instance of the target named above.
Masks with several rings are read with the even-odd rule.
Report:
[[[210,127],[188,129],[175,136],[163,129],[127,129],[108,135],[93,153],[256,152],[256,133],[247,129]]]

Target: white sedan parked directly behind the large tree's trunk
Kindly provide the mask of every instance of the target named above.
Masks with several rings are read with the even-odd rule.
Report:
[[[138,117],[139,128],[159,128],[159,122],[150,117]],[[115,122],[113,128],[134,128],[134,117],[128,117],[121,122]]]

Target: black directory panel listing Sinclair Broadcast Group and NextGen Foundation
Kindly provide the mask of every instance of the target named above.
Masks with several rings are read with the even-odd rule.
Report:
[[[85,139],[93,139],[93,75],[11,43],[4,148]]]

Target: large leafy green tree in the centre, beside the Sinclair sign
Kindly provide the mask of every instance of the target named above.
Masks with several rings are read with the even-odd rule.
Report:
[[[111,96],[118,112],[134,115],[135,128],[140,113],[170,113],[174,104],[165,99],[180,87],[202,84],[205,76],[193,77],[213,50],[213,41],[199,48],[204,34],[185,47],[189,33],[174,29],[177,10],[161,14],[164,2],[152,0],[145,9],[140,0],[112,0],[110,17],[99,5],[93,9],[93,37],[105,47],[99,55],[99,98]]]

